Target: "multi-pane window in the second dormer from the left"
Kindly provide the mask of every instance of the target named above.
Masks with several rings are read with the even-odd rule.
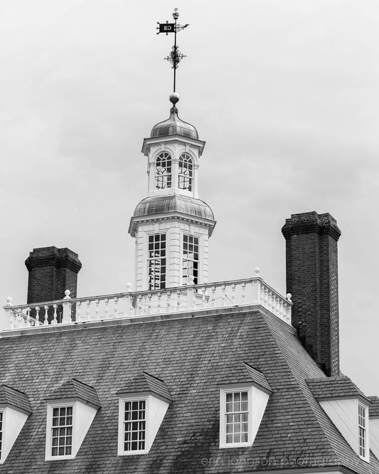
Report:
[[[51,455],[67,456],[73,451],[73,406],[55,406],[51,418]]]

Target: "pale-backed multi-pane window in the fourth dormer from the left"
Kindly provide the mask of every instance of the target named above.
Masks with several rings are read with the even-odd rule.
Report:
[[[247,443],[249,433],[248,392],[225,394],[225,443]]]

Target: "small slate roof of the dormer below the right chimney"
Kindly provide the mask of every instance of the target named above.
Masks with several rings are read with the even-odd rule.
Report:
[[[369,401],[358,386],[346,375],[306,379],[315,399],[363,398]]]

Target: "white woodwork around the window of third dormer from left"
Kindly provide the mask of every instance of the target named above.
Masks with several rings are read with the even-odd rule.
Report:
[[[145,448],[142,450],[124,451],[124,404],[125,401],[146,401],[145,419]],[[118,455],[136,455],[149,453],[156,433],[159,431],[166,411],[169,408],[169,401],[161,399],[154,394],[129,394],[121,396],[119,399],[119,436],[118,436]]]

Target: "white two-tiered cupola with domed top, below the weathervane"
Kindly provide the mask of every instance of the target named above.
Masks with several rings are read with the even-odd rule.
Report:
[[[208,281],[208,238],[213,212],[198,199],[198,168],[205,142],[178,117],[178,94],[170,116],[144,139],[148,196],[137,204],[129,233],[136,238],[136,290]]]

